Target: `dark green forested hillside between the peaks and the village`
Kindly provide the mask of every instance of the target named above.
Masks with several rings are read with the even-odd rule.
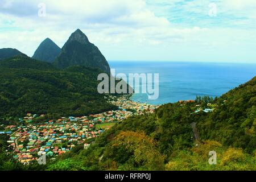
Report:
[[[77,116],[116,109],[97,92],[100,69],[59,70],[22,55],[0,61],[0,72],[0,116]]]

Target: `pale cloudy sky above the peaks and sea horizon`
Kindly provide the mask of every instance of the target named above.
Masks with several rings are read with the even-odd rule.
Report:
[[[256,63],[255,0],[1,0],[0,48],[80,28],[107,60]]]

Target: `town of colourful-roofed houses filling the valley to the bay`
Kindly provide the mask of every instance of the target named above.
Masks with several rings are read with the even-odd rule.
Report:
[[[10,136],[7,141],[9,149],[20,163],[30,164],[42,155],[55,160],[57,156],[71,151],[77,145],[84,145],[84,149],[88,148],[90,140],[98,137],[115,123],[133,115],[154,113],[159,107],[131,101],[127,96],[109,96],[109,102],[117,105],[119,109],[84,117],[62,117],[44,123],[33,123],[35,118],[44,115],[28,113],[26,117],[19,119],[23,125],[7,126],[6,131],[1,131],[0,134]]]

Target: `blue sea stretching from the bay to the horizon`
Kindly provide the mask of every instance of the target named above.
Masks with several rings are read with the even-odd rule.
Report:
[[[195,100],[196,96],[219,97],[256,76],[256,64],[144,61],[109,61],[109,64],[116,74],[159,73],[157,100],[148,100],[147,94],[131,97],[155,105]]]

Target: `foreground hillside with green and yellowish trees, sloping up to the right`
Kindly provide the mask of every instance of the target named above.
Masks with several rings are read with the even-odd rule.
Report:
[[[255,86],[253,80],[215,100],[167,104],[155,114],[126,119],[83,150],[60,156],[48,170],[255,170]],[[213,101],[212,113],[192,114]],[[197,123],[195,140],[191,123]],[[217,165],[209,165],[209,151]]]

